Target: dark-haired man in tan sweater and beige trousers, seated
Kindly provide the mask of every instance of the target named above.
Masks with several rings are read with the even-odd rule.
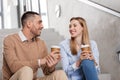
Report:
[[[48,54],[43,40],[41,16],[32,11],[23,14],[22,30],[4,39],[3,80],[67,80],[62,70],[55,70],[60,61],[59,51]],[[42,68],[44,77],[37,78]]]

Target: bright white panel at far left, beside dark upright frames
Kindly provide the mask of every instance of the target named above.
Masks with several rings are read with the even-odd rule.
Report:
[[[3,0],[4,28],[18,28],[17,5],[10,0]]]

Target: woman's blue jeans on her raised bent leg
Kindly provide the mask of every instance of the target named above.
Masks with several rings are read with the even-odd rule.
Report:
[[[81,62],[80,67],[83,73],[82,80],[99,80],[93,60],[88,60],[88,59],[83,60]]]

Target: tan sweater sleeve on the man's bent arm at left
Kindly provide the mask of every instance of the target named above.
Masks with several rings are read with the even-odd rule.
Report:
[[[11,37],[6,37],[3,42],[4,58],[12,73],[15,73],[23,66],[30,66],[31,68],[38,67],[37,60],[21,61],[16,55],[14,40]]]

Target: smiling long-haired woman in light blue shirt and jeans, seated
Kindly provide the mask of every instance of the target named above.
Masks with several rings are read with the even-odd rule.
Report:
[[[89,41],[86,21],[82,17],[70,19],[71,39],[60,43],[62,67],[69,80],[98,80],[99,52],[95,41]],[[89,45],[90,51],[81,51]]]

